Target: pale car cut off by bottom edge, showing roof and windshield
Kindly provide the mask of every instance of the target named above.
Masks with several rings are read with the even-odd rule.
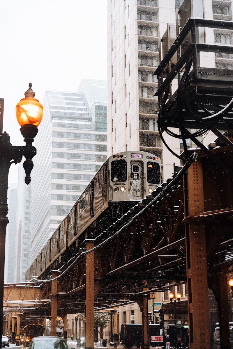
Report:
[[[29,349],[68,349],[66,342],[61,337],[40,336],[34,337]],[[75,348],[70,348],[75,349]]]

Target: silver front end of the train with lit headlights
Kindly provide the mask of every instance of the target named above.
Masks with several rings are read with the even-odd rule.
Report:
[[[140,201],[161,183],[161,160],[145,151],[125,151],[109,158],[109,201]]]

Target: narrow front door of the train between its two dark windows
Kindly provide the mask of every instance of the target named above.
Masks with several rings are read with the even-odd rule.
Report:
[[[130,161],[130,199],[142,200],[144,198],[144,173],[143,163]]]

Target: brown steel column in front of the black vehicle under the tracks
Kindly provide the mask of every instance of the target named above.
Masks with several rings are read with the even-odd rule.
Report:
[[[135,302],[138,303],[142,318],[143,318],[143,349],[150,348],[150,332],[149,332],[149,318],[148,318],[148,296],[141,295],[135,297]]]

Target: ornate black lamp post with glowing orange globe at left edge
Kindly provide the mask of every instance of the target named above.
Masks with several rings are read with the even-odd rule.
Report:
[[[2,339],[2,317],[3,317],[3,284],[5,263],[5,240],[6,226],[8,221],[7,188],[8,173],[10,165],[19,163],[25,157],[23,168],[26,173],[25,183],[31,181],[30,173],[33,168],[32,157],[36,155],[36,148],[32,146],[37,135],[37,126],[42,120],[43,106],[35,99],[35,92],[29,89],[24,93],[25,98],[16,105],[16,118],[21,128],[20,132],[24,138],[25,146],[12,146],[10,137],[2,132],[2,118],[0,115],[0,348]]]

